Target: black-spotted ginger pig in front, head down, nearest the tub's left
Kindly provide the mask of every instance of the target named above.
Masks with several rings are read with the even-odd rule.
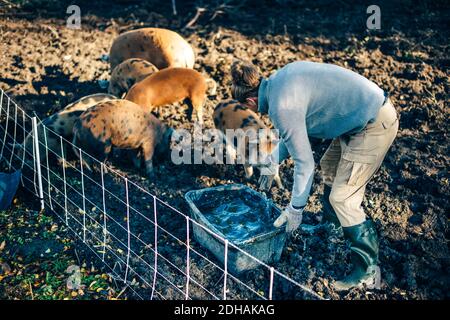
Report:
[[[154,115],[128,100],[99,103],[81,114],[73,128],[73,144],[105,161],[113,148],[132,149],[145,161],[146,172],[153,175],[153,156],[169,151],[172,129]],[[92,161],[83,158],[90,168]]]

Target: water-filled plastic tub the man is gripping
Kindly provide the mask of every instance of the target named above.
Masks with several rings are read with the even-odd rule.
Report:
[[[281,213],[270,200],[244,185],[227,185],[189,191],[185,195],[194,221],[194,239],[224,263],[227,239],[264,263],[280,259],[286,242],[285,228],[273,222]],[[259,262],[233,246],[228,247],[228,270],[234,274],[258,267]]]

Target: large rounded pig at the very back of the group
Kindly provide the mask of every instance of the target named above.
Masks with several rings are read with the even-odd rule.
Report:
[[[109,53],[111,70],[129,58],[147,60],[158,69],[192,69],[195,54],[191,45],[174,31],[142,28],[122,33],[114,40]]]

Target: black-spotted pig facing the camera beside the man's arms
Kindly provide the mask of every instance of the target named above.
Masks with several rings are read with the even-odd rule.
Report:
[[[267,136],[264,140],[258,141],[258,151],[263,153],[263,157],[269,155],[276,146],[276,137],[272,134],[271,130],[264,124],[261,118],[245,105],[239,103],[236,100],[227,100],[219,103],[213,114],[214,125],[216,129],[219,129],[224,134],[224,139],[227,145],[237,147],[237,141],[226,141],[226,130],[238,130],[243,132],[254,130],[258,134],[261,129],[267,130]],[[248,143],[251,142],[246,136],[245,144],[242,146],[245,148],[241,154],[246,157],[246,164],[244,164],[245,175],[250,178],[253,175],[253,166],[248,164]],[[282,187],[281,179],[276,176],[275,182],[278,187]]]

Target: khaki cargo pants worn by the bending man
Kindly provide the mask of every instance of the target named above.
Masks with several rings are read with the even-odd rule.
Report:
[[[330,203],[343,227],[366,220],[361,203],[366,185],[380,168],[398,131],[398,116],[387,99],[377,118],[359,133],[335,138],[320,160]]]

